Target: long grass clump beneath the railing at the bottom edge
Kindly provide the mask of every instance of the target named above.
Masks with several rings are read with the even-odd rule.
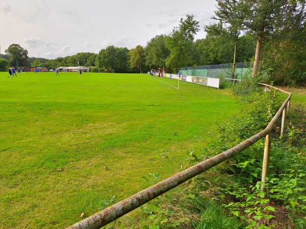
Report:
[[[218,180],[221,176],[211,174]],[[146,214],[139,228],[243,228],[205,193],[212,177],[198,176],[141,207]]]

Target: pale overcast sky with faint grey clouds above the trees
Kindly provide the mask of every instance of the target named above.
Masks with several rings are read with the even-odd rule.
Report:
[[[29,57],[56,59],[78,52],[98,53],[110,45],[146,46],[170,35],[181,18],[193,14],[205,38],[215,0],[0,0],[0,49],[11,44]]]

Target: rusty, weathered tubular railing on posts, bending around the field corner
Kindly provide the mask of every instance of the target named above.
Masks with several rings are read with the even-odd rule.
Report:
[[[205,161],[202,161],[190,168],[185,169],[181,173],[175,174],[174,176],[161,181],[151,187],[148,187],[126,199],[123,201],[114,204],[113,206],[110,206],[107,209],[104,209],[103,211],[100,211],[92,216],[89,216],[86,219],[83,219],[80,222],[77,222],[69,227],[67,229],[85,229],[85,228],[101,228],[102,226],[107,225],[108,223],[114,221],[115,219],[125,215],[126,213],[129,213],[136,208],[142,206],[143,204],[151,201],[152,199],[158,197],[159,195],[169,191],[170,189],[184,183],[185,181],[188,181],[189,179],[203,173],[203,171],[206,171],[215,165],[231,158],[240,153],[241,151],[245,150],[261,138],[265,137],[265,150],[264,150],[264,161],[263,161],[263,171],[262,171],[262,182],[265,182],[267,174],[268,174],[268,168],[269,168],[269,160],[270,160],[270,148],[271,148],[271,131],[273,130],[274,125],[276,124],[277,120],[281,115],[282,117],[282,128],[281,128],[281,137],[284,136],[284,127],[285,127],[285,118],[286,115],[288,115],[289,112],[289,106],[290,106],[290,99],[291,99],[291,93],[286,92],[284,90],[272,87],[268,84],[260,83],[261,85],[264,85],[266,87],[265,91],[267,92],[268,88],[274,90],[274,96],[276,91],[281,91],[283,93],[288,94],[287,99],[282,104],[281,108],[278,109],[275,116],[272,118],[270,123],[267,125],[267,127],[262,130],[261,132],[251,136],[250,138],[244,140],[240,144],[236,145],[235,147],[224,151],[214,157],[211,157]],[[263,188],[263,187],[262,187]]]

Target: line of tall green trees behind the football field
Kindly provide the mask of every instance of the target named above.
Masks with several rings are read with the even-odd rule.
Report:
[[[181,18],[169,35],[157,35],[145,47],[108,46],[99,53],[82,52],[55,60],[28,58],[12,44],[3,55],[8,65],[46,67],[89,66],[93,72],[132,73],[166,68],[176,73],[188,66],[251,61],[252,76],[276,84],[306,81],[305,0],[216,0],[216,23],[203,28],[206,38],[194,41],[200,30],[194,15]],[[2,59],[3,60],[3,59]],[[79,62],[79,64],[78,64]],[[0,61],[0,68],[2,62]]]

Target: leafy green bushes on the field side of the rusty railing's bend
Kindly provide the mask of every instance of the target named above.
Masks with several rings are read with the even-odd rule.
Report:
[[[227,123],[219,124],[217,134],[208,135],[207,147],[209,152],[213,154],[223,152],[262,131],[279,107],[279,103],[273,98],[271,92],[253,94],[252,97],[245,97],[244,101],[248,101],[248,103],[244,102],[244,109],[239,114]],[[248,161],[248,164],[245,166],[242,164],[240,169],[245,170],[248,166],[257,166],[257,163],[261,163],[256,152],[261,152],[262,150],[262,141],[259,141],[246,149],[245,153],[237,155],[235,158],[238,163]],[[253,153],[250,154],[250,152]],[[240,158],[240,155],[244,156]],[[246,159],[245,156],[249,156],[249,158]]]

